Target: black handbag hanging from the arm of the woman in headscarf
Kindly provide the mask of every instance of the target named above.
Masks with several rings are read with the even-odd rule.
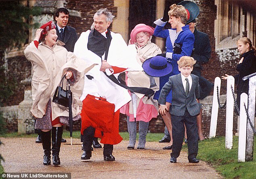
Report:
[[[56,88],[56,91],[54,93],[52,102],[57,103],[59,105],[69,107],[69,93],[70,97],[72,99],[72,92],[70,91],[70,85],[67,80],[66,84],[66,90],[63,89],[63,80],[64,80],[65,75],[61,78],[61,82],[59,86]],[[67,90],[67,86],[69,86],[69,89]]]

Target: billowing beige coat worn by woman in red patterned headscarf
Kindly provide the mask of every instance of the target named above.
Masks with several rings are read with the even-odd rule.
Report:
[[[71,86],[73,117],[81,113],[82,101],[79,98],[84,87],[84,74],[96,64],[88,65],[83,60],[78,59],[72,52],[68,52],[62,45],[65,45],[65,43],[57,41],[50,48],[44,43],[40,43],[37,48],[34,41],[32,41],[24,50],[25,57],[32,64],[31,90],[33,105],[31,113],[36,118],[42,118],[45,115],[49,99],[51,101],[52,120],[59,116],[69,115],[68,107],[52,102],[55,90],[67,70],[76,73],[75,82]],[[63,84],[63,88],[65,88],[66,80]]]

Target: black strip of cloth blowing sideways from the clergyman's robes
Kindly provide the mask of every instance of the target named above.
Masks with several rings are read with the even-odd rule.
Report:
[[[104,74],[111,80],[113,81],[115,84],[118,84],[119,86],[122,86],[123,88],[126,88],[128,90],[130,90],[130,92],[132,93],[140,93],[145,95],[146,97],[151,97],[154,95],[154,91],[150,88],[145,88],[145,87],[130,87],[130,86],[126,86],[125,84],[122,84],[118,81],[118,79],[115,78],[115,76],[113,74],[111,75],[107,75],[106,72],[104,72]]]

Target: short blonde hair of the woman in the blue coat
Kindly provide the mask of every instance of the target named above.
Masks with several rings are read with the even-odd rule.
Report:
[[[180,17],[181,23],[183,23],[183,24],[187,23],[187,17],[188,17],[187,10],[185,9],[184,6],[172,4],[172,6],[170,6],[168,15],[174,16],[176,18]]]

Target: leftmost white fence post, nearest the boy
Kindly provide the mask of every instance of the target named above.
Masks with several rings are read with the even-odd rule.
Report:
[[[216,77],[214,80],[214,91],[213,91],[213,99],[212,99],[212,115],[211,115],[211,124],[210,124],[210,134],[209,138],[214,138],[216,136],[217,129],[217,119],[218,119],[218,99],[217,99],[217,86],[220,96],[220,77]]]

